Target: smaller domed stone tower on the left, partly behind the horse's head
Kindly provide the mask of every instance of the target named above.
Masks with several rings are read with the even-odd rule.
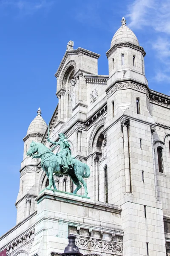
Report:
[[[26,137],[23,138],[24,153],[20,169],[20,189],[15,203],[17,207],[17,223],[23,221],[28,215],[36,210],[34,198],[37,196],[38,172],[37,159],[31,159],[26,155],[27,149],[32,140],[41,142],[47,124],[41,116],[41,109],[28,127]]]

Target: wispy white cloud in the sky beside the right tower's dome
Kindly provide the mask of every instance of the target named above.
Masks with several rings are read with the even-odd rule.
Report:
[[[152,29],[154,37],[149,44],[158,59],[154,79],[170,81],[170,0],[135,0],[129,6],[127,17],[131,29]]]

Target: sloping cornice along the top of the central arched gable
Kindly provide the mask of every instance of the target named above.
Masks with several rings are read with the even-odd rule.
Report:
[[[58,70],[57,70],[57,72],[55,73],[54,76],[55,77],[59,76],[59,72],[61,71],[61,69],[63,67],[63,64],[65,62],[65,59],[67,58],[68,55],[75,55],[75,54],[79,54],[79,53],[91,56],[91,57],[96,58],[96,59],[98,59],[100,57],[99,54],[97,54],[95,52],[88,51],[88,50],[83,49],[81,47],[79,47],[77,50],[66,51],[65,54],[64,54],[64,57],[62,58],[62,61],[61,61],[60,65],[59,65],[59,68],[58,68]]]

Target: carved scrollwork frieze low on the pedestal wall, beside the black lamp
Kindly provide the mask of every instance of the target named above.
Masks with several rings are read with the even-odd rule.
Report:
[[[103,239],[94,239],[86,237],[77,237],[76,245],[79,248],[85,248],[90,250],[102,250],[106,253],[114,255],[123,255],[123,244],[116,241],[106,241]]]

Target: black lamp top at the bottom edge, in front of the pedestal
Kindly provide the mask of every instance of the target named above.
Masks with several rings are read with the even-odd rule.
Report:
[[[64,253],[61,256],[84,256],[79,252],[79,247],[75,244],[76,236],[68,236],[68,246],[65,247]]]

